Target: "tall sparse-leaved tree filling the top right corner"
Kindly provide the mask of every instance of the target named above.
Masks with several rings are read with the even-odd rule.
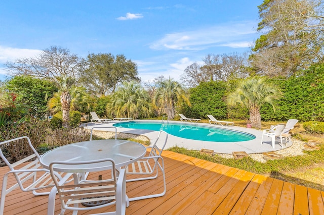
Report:
[[[320,0],[265,0],[250,56],[259,73],[290,76],[323,61],[323,5]]]

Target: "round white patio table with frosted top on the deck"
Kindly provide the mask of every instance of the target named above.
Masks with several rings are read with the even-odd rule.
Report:
[[[128,140],[92,140],[72,143],[54,148],[41,156],[39,162],[46,169],[54,160],[70,162],[86,162],[103,158],[111,158],[118,170],[141,159],[146,153],[144,145]],[[56,165],[53,169],[66,173],[88,173],[111,169],[111,163],[96,163],[71,169],[64,165]],[[56,187],[49,195],[48,214],[54,213]],[[54,202],[53,202],[54,201]]]

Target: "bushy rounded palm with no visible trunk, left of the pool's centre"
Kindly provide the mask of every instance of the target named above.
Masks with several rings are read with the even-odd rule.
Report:
[[[147,91],[135,81],[123,82],[112,94],[106,108],[115,117],[148,117],[152,110]]]

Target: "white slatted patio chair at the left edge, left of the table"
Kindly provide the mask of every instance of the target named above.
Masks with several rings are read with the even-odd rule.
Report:
[[[28,141],[28,145],[33,151],[33,154],[18,160],[11,164],[3,153],[4,145],[15,144],[19,147],[20,141]],[[50,176],[50,171],[42,168],[39,163],[39,154],[32,146],[30,139],[26,136],[18,137],[15,139],[7,140],[0,143],[0,157],[4,160],[10,171],[4,175],[0,200],[0,214],[4,213],[6,195],[16,188],[20,188],[24,192],[32,192],[34,195],[49,195],[50,192],[37,192],[40,189],[49,188],[54,186],[54,182]],[[25,165],[24,165],[25,164]],[[8,176],[13,174],[17,181],[16,184],[7,189]],[[53,173],[58,179],[62,179],[61,174]],[[18,201],[17,201],[18,202]]]

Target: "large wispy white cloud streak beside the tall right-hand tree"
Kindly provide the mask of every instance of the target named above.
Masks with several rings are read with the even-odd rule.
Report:
[[[225,23],[192,31],[166,34],[150,45],[152,49],[202,50],[212,46],[249,47],[255,22]],[[250,41],[249,41],[250,40]]]

